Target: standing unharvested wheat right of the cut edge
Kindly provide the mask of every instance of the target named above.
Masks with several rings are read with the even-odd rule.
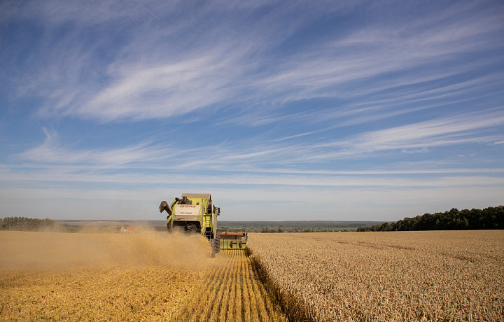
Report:
[[[293,321],[504,320],[502,230],[251,234],[248,246]]]

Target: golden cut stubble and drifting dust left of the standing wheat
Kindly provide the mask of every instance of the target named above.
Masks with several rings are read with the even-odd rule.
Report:
[[[201,236],[0,232],[0,320],[286,321],[244,251]]]

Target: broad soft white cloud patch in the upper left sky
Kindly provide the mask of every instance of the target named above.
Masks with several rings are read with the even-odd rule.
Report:
[[[102,120],[170,118],[229,97],[237,69],[220,54],[123,70],[76,113]]]

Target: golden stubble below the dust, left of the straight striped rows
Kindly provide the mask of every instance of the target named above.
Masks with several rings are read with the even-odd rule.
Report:
[[[201,272],[188,272],[181,278],[179,269],[159,266],[3,274],[0,319],[167,321],[201,279]]]

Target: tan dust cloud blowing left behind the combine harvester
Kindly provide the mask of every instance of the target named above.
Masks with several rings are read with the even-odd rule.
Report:
[[[201,235],[139,231],[0,232],[0,269],[55,269],[96,265],[162,265],[201,269],[211,265]]]

